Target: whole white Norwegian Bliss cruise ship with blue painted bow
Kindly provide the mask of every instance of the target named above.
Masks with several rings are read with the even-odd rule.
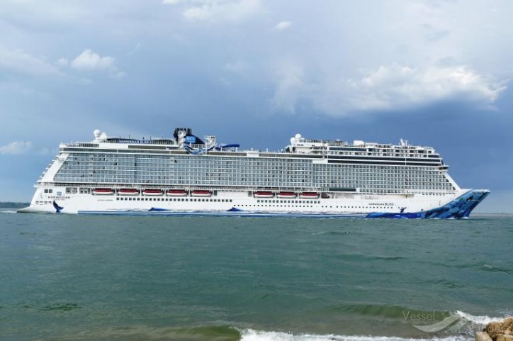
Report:
[[[461,189],[433,147],[300,134],[277,152],[176,128],[172,138],[60,145],[19,212],[152,216],[468,218],[490,193]]]

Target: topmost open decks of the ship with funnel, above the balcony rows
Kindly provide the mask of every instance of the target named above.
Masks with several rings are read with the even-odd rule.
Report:
[[[215,142],[215,136],[205,136],[203,140],[192,135],[184,128],[175,132],[175,138],[111,138],[95,130],[95,139],[91,142],[61,143],[61,151],[98,151],[103,152],[144,152],[154,154],[191,154],[191,155],[232,155],[247,157],[305,157],[310,159],[334,157],[359,157],[359,160],[405,160],[418,159],[425,162],[439,162],[441,157],[433,147],[410,145],[406,140],[400,144],[383,144],[355,140],[353,143],[341,140],[305,139],[300,134],[291,138],[291,143],[278,151],[239,150],[239,145],[225,145]],[[179,135],[182,134],[182,135]]]

